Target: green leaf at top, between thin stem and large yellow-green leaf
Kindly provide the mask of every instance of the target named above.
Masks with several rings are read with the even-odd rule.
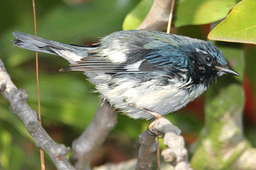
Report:
[[[176,2],[174,26],[213,23],[225,18],[237,0],[179,0]]]

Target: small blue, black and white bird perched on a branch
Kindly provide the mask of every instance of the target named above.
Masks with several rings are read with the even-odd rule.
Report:
[[[13,45],[58,55],[83,72],[100,97],[129,118],[166,115],[203,94],[223,74],[239,76],[205,40],[154,30],[121,30],[92,45],[68,45],[13,33]]]

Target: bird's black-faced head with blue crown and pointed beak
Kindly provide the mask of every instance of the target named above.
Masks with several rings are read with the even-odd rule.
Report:
[[[196,40],[186,49],[189,61],[189,74],[194,84],[209,86],[213,79],[223,74],[239,76],[237,72],[228,67],[223,52],[214,45],[203,40]]]

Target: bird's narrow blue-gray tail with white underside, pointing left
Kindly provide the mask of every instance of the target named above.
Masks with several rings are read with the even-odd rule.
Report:
[[[82,57],[87,57],[88,50],[92,50],[91,47],[62,44],[25,33],[14,32],[13,35],[16,38],[14,46],[50,55],[59,55],[71,64],[80,61]]]

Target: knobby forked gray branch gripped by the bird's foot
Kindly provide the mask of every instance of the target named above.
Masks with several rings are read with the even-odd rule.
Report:
[[[142,158],[146,157],[147,160],[138,159],[137,170],[151,169],[151,157],[153,156],[152,152],[154,152],[154,149],[152,148],[155,148],[156,141],[153,142],[155,137],[148,137],[150,136],[149,131],[156,135],[164,135],[164,145],[168,148],[164,149],[161,152],[161,155],[164,157],[165,162],[174,166],[176,170],[191,170],[190,164],[188,163],[188,151],[185,148],[185,142],[181,136],[181,130],[172,125],[169,120],[162,116],[151,122],[148,130],[144,131],[142,135],[140,135],[142,146],[139,150],[139,155],[141,155]],[[142,152],[142,147],[144,150],[147,150],[147,152]]]

